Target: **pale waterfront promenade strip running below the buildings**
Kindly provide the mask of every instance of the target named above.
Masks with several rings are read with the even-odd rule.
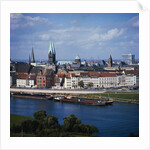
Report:
[[[10,88],[11,93],[24,92],[24,93],[41,93],[41,94],[100,94],[106,91],[90,91],[90,90],[52,90],[52,89],[24,89],[24,88]]]

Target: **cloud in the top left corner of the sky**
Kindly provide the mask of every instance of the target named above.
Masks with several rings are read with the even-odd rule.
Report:
[[[51,22],[47,18],[31,17],[25,16],[19,13],[11,13],[10,14],[10,27],[11,29],[16,29],[19,27],[27,27],[27,26],[34,26],[39,23],[47,23],[51,24]]]

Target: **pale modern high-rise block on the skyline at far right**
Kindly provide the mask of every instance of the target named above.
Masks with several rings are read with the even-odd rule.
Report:
[[[124,54],[122,55],[122,61],[128,65],[131,65],[135,62],[135,55]]]

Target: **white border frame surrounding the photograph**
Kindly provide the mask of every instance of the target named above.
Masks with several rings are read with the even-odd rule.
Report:
[[[135,1],[1,2],[1,148],[2,149],[149,149],[149,12]],[[10,137],[10,13],[139,13],[139,137]],[[8,79],[8,80],[7,80]]]

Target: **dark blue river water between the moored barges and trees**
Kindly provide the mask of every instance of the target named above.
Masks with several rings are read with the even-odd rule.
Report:
[[[38,110],[58,118],[63,124],[63,117],[74,114],[82,123],[94,125],[100,136],[127,137],[132,132],[139,133],[139,105],[114,102],[108,106],[90,106],[73,103],[59,103],[53,100],[10,98],[10,113],[33,116]]]

